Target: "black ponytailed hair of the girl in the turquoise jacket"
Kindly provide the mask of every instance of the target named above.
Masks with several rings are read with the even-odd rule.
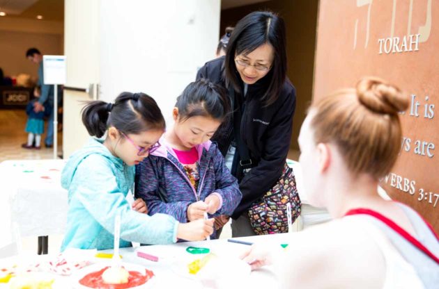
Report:
[[[150,129],[163,130],[164,117],[155,100],[144,94],[122,92],[114,104],[105,101],[90,101],[82,108],[82,122],[88,134],[98,138],[109,126],[125,134],[141,133]]]

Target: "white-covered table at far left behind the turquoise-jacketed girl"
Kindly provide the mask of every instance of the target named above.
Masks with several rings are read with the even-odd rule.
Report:
[[[15,227],[20,236],[64,233],[68,194],[61,188],[61,171],[65,163],[64,160],[0,163],[0,217],[4,232],[0,236],[0,248],[15,242]],[[47,245],[47,238],[39,240],[44,243],[40,245]]]

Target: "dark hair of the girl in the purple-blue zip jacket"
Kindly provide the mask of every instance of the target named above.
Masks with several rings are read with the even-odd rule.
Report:
[[[212,117],[222,122],[230,112],[226,90],[207,79],[199,79],[187,85],[177,98],[179,121],[190,117]]]

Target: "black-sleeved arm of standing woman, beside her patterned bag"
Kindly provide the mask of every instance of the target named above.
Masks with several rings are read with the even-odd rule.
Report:
[[[232,215],[234,219],[270,190],[281,176],[290,148],[294,111],[295,90],[293,89],[284,104],[279,106],[276,117],[270,122],[259,164],[240,181],[242,201]]]

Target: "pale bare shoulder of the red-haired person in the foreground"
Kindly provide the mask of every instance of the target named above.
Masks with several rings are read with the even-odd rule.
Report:
[[[282,258],[284,281],[297,288],[379,288],[385,262],[367,232],[334,220],[292,236]],[[287,271],[287,272],[285,272]]]

